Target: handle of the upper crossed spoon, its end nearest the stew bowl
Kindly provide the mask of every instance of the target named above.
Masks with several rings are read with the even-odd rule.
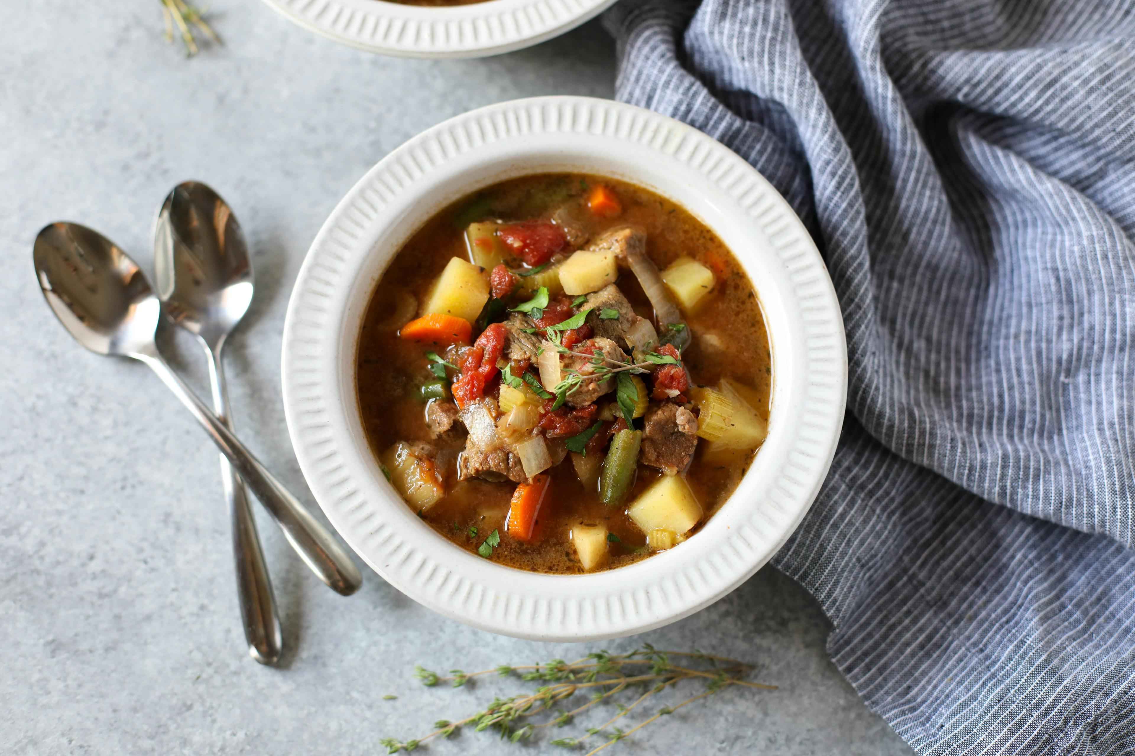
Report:
[[[264,469],[224,423],[178,377],[157,349],[135,352],[133,357],[149,365],[209,433],[221,453],[263,503],[292,547],[308,567],[331,589],[350,596],[362,585],[362,574],[337,541],[284,485]]]

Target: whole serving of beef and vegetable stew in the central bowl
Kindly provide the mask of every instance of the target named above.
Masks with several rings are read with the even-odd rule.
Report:
[[[422,520],[574,574],[696,535],[764,441],[772,369],[713,231],[641,187],[555,173],[465,197],[405,244],[356,377],[379,468]]]

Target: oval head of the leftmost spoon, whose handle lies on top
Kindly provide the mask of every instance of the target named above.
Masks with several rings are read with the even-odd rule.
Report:
[[[43,296],[79,343],[119,357],[157,351],[161,303],[118,245],[64,221],[40,231],[32,257]]]

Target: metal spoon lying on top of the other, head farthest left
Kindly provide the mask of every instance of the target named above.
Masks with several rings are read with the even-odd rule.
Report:
[[[161,303],[134,261],[101,233],[65,222],[40,231],[33,258],[43,296],[70,334],[95,354],[149,365],[197,418],[308,567],[345,596],[358,591],[362,575],[331,534],[162,359],[154,340]]]

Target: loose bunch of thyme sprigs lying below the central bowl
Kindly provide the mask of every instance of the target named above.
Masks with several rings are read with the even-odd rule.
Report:
[[[683,660],[682,664],[675,664],[671,657]],[[688,661],[686,661],[688,660]],[[708,669],[705,669],[708,666]],[[554,659],[544,664],[528,666],[501,665],[490,670],[479,672],[463,672],[454,670],[454,677],[442,677],[429,670],[417,668],[415,677],[427,686],[436,686],[438,682],[451,682],[453,687],[461,687],[469,683],[474,678],[486,674],[497,674],[501,677],[519,677],[524,681],[545,682],[532,693],[522,693],[508,698],[494,698],[486,708],[471,714],[459,721],[439,720],[434,723],[434,731],[421,738],[401,741],[394,738],[385,738],[379,742],[386,747],[388,754],[398,751],[411,751],[423,742],[432,738],[448,739],[462,728],[472,728],[474,732],[495,730],[502,740],[519,742],[530,739],[536,732],[549,727],[566,727],[574,717],[604,702],[614,703],[616,713],[597,728],[588,728],[585,734],[578,737],[555,738],[550,740],[554,746],[565,748],[578,748],[587,744],[591,738],[606,738],[591,748],[587,756],[594,756],[608,746],[623,740],[651,722],[676,712],[683,706],[688,706],[696,700],[720,693],[730,686],[743,686],[762,690],[775,690],[776,686],[749,682],[741,679],[749,673],[753,666],[733,659],[713,656],[700,652],[666,652],[657,651],[654,646],[646,644],[629,654],[611,654],[606,651],[588,654],[587,656],[565,662],[562,659]],[[629,730],[616,727],[623,717],[631,714],[653,696],[675,687],[686,680],[703,680],[706,688],[698,695],[674,705],[659,708],[651,716],[639,722]],[[630,688],[638,687],[642,693],[630,704],[622,704],[615,700],[620,694]],[[557,705],[568,702],[570,698],[590,691],[588,700],[574,705],[571,708],[557,708]],[[539,714],[543,721],[532,720]]]

